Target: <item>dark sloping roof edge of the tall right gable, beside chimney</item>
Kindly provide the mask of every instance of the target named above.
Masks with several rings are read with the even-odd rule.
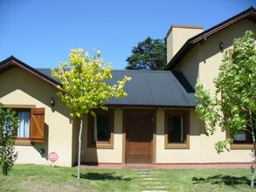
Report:
[[[224,30],[226,27],[229,27],[232,24],[236,24],[242,19],[249,19],[256,23],[255,8],[250,7],[249,9],[239,13],[238,15],[225,20],[224,22],[217,24],[214,27],[211,27],[209,30],[201,32],[195,37],[188,39],[186,43],[182,46],[182,48],[177,51],[176,55],[170,60],[169,64],[165,66],[164,70],[172,70],[184,57],[184,55],[189,52],[198,42],[206,40],[211,35],[217,33],[218,31]]]

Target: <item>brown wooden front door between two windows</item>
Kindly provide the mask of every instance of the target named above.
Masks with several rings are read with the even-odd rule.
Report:
[[[154,113],[126,113],[126,163],[151,163]]]

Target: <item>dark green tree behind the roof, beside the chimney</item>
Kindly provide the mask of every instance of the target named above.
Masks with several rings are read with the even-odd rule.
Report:
[[[166,65],[165,39],[146,38],[132,50],[127,58],[128,70],[163,70]]]

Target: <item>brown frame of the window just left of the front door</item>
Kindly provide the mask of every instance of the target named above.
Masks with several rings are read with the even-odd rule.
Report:
[[[94,113],[108,117],[108,141],[94,141],[94,117],[87,116],[87,147],[114,148],[114,109],[108,108],[107,111],[98,109]]]

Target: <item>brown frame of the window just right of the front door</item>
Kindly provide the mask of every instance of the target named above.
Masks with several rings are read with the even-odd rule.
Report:
[[[170,142],[169,117],[183,117],[183,143]],[[189,110],[166,110],[164,113],[164,147],[166,149],[189,149],[190,148],[190,111]]]

